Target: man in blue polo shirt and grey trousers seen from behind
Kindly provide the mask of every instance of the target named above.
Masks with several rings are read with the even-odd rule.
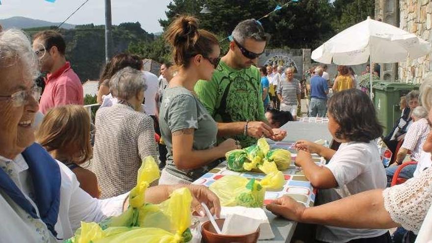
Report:
[[[310,79],[311,102],[309,104],[309,116],[311,117],[325,117],[327,113],[328,86],[323,72],[323,68],[318,66],[315,69],[314,76]]]

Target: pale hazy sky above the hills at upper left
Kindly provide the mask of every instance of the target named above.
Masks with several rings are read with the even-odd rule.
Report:
[[[63,22],[85,0],[0,0],[0,19],[22,16],[50,22]],[[170,0],[111,0],[112,24],[139,22],[149,33],[162,31],[159,19],[166,19]],[[66,23],[105,24],[105,0],[89,0]]]

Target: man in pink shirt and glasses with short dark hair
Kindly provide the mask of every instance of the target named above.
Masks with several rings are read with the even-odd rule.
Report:
[[[62,105],[84,105],[82,84],[66,61],[66,44],[60,33],[45,30],[35,34],[33,50],[40,59],[41,71],[48,72],[39,110],[46,114],[49,109]]]

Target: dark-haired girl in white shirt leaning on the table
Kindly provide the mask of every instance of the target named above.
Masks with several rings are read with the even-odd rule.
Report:
[[[341,145],[337,151],[308,141],[297,141],[296,163],[312,186],[320,189],[316,204],[335,201],[371,189],[384,189],[386,176],[375,139],[382,134],[370,98],[360,90],[335,93],[327,104],[328,130]],[[311,153],[329,162],[318,166]],[[352,209],[355,210],[355,209]],[[391,242],[387,230],[346,229],[319,225],[319,242]],[[364,241],[362,241],[364,240]]]

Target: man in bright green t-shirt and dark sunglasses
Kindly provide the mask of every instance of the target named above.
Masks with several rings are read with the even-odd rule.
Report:
[[[230,36],[229,51],[221,58],[212,81],[200,80],[195,92],[217,122],[218,136],[234,138],[242,147],[265,136],[282,140],[286,132],[271,129],[264,115],[261,76],[252,66],[266,48],[267,36],[256,20],[239,23]]]

